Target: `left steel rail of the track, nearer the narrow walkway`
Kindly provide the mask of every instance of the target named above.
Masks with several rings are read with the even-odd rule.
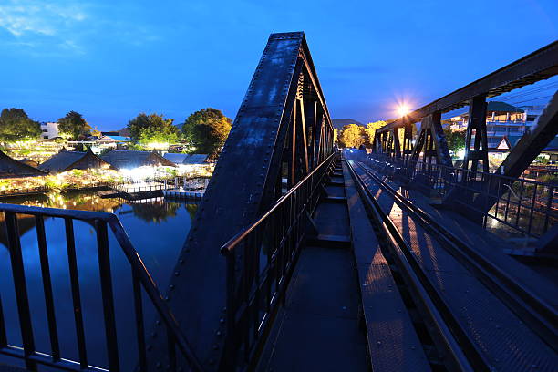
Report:
[[[387,249],[397,261],[405,282],[411,288],[415,298],[418,299],[425,315],[429,317],[429,324],[434,330],[433,338],[437,345],[443,348],[445,355],[449,356],[450,370],[460,371],[490,371],[491,366],[478,347],[470,340],[459,320],[449,310],[442,295],[429,282],[426,272],[421,268],[417,258],[411,253],[408,243],[403,235],[398,232],[392,222],[382,212],[374,195],[368,190],[365,182],[356,174],[352,164],[346,161],[351,177],[355,181],[356,190],[360,194],[367,210],[368,217],[377,225],[387,239]]]

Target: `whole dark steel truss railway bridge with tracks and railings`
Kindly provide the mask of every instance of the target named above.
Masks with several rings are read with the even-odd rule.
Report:
[[[0,204],[11,263],[0,277],[9,276],[15,290],[15,304],[0,298],[0,364],[32,371],[555,371],[556,283],[511,257],[553,265],[556,277],[556,185],[519,177],[557,135],[558,94],[495,173],[488,170],[486,98],[556,73],[558,42],[378,129],[371,153],[339,152],[304,34],[273,34],[168,287],[153,281],[112,213]],[[466,155],[454,168],[440,118],[463,106],[470,113]],[[36,222],[32,247],[20,240],[23,215]],[[63,222],[63,231],[46,231],[47,218]],[[98,248],[102,345],[88,343],[91,320],[83,316],[88,301],[74,236],[83,222]],[[502,229],[531,246],[511,248],[495,234]],[[66,237],[68,298],[53,286],[53,233]],[[29,301],[28,249],[40,260],[38,307]],[[116,253],[129,265],[131,303],[113,292]],[[64,303],[73,308],[75,352],[60,344],[68,332],[57,318]],[[6,323],[6,305],[16,307],[16,324]],[[121,306],[133,336],[118,332]],[[156,319],[144,316],[148,306]],[[47,346],[37,343],[36,316],[47,319]],[[9,327],[19,340],[8,339]],[[105,350],[103,360],[93,360],[94,348]],[[19,370],[7,368],[0,366]]]

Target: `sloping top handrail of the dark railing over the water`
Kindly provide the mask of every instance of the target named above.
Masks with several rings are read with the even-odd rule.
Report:
[[[169,305],[167,305],[165,303],[162,295],[160,294],[160,290],[157,287],[157,284],[155,284],[155,282],[154,282],[153,278],[151,277],[149,271],[147,270],[145,264],[141,260],[140,254],[136,251],[133,244],[129,240],[128,233],[126,233],[126,231],[124,230],[124,227],[122,226],[121,222],[119,221],[119,218],[114,213],[77,211],[77,210],[63,210],[63,209],[57,209],[57,208],[41,208],[41,207],[35,207],[35,206],[4,204],[4,203],[0,203],[0,212],[5,213],[6,222],[7,222],[7,217],[8,216],[12,216],[11,218],[13,218],[15,220],[15,214],[17,214],[17,213],[26,214],[26,215],[33,215],[33,216],[36,216],[36,217],[41,218],[41,219],[43,219],[44,217],[62,218],[62,219],[65,219],[65,221],[70,221],[70,226],[71,226],[71,220],[78,220],[78,221],[84,221],[84,222],[94,222],[95,226],[96,226],[96,229],[98,230],[98,234],[99,234],[99,230],[103,230],[103,228],[99,228],[99,226],[102,226],[102,224],[99,225],[98,222],[104,222],[104,223],[108,224],[110,226],[110,230],[114,233],[114,236],[115,236],[117,242],[119,243],[122,252],[126,256],[126,258],[128,259],[128,262],[130,263],[130,265],[132,267],[132,274],[134,276],[134,280],[136,280],[136,279],[139,280],[139,282],[143,286],[145,292],[149,295],[152,305],[154,305],[155,309],[157,310],[157,313],[160,315],[162,321],[167,326],[168,332],[171,333],[170,338],[172,338],[174,340],[174,342],[176,343],[176,345],[179,347],[179,349],[181,350],[181,353],[183,354],[183,356],[186,358],[186,360],[190,364],[191,369],[196,370],[196,371],[202,371],[203,370],[200,360],[197,358],[197,356],[195,356],[195,354],[193,352],[193,349],[192,349],[191,345],[189,344],[186,336],[184,336],[183,333],[181,332],[180,326],[178,325],[178,322],[176,321],[176,318],[172,314]],[[42,234],[43,234],[43,237],[44,237],[44,224],[41,224],[41,226],[42,226]],[[8,236],[14,236],[14,232],[9,231],[10,227],[8,227],[7,223],[6,223],[6,229],[8,230]],[[38,225],[37,225],[37,231],[38,231]],[[104,228],[104,232],[106,233],[106,227]],[[73,232],[72,232],[71,236],[73,237]],[[17,242],[17,244],[15,244],[15,246],[17,246],[18,244],[19,243]],[[102,244],[104,244],[104,245],[102,245]],[[12,250],[14,248],[14,246],[12,246],[12,245],[13,244],[10,243],[10,250]],[[39,242],[39,246],[40,245],[41,245],[41,243]],[[45,242],[45,245],[46,245],[46,242]],[[108,245],[109,245],[106,235],[105,235],[105,238],[103,239],[102,243],[98,241],[98,245],[99,245],[99,262],[100,262],[101,261],[100,251],[104,250],[104,249],[108,249]],[[102,247],[101,247],[101,245],[102,245]],[[19,248],[19,250],[21,250],[21,248]],[[107,259],[108,259],[108,253],[107,253]],[[101,275],[101,277],[102,277],[102,275]],[[101,285],[103,285],[102,280],[101,280]],[[18,307],[19,306],[20,306],[20,304],[18,304]],[[3,319],[0,319],[0,325],[2,325],[2,322],[3,322]],[[21,322],[22,322],[22,320],[20,319],[20,323]],[[114,332],[116,332],[116,330]],[[25,344],[25,340],[24,340],[24,344]],[[0,346],[2,346],[2,345],[0,345]],[[25,349],[25,345],[24,345],[24,349]],[[2,352],[2,350],[0,350],[0,353],[1,352]],[[30,353],[26,354],[26,356],[30,357],[30,356],[35,355],[35,354],[37,354],[36,351],[31,350]],[[58,358],[53,358],[53,359],[57,359],[58,362],[60,360],[62,360],[62,361],[64,360],[64,359],[60,359],[59,357]],[[46,363],[43,363],[43,364],[50,364],[51,366],[56,366],[56,364],[52,364],[48,361],[46,361]],[[118,360],[117,360],[117,367],[115,369],[118,369]],[[112,368],[111,368],[111,370],[112,370]]]

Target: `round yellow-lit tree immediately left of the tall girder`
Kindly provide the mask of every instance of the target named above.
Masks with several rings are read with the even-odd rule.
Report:
[[[210,154],[213,158],[224,145],[233,121],[219,109],[202,109],[191,114],[182,125],[182,132],[196,151]]]

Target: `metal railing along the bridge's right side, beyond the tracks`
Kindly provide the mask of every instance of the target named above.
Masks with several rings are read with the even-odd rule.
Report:
[[[455,203],[481,218],[483,228],[499,224],[527,236],[540,237],[558,222],[558,185],[470,171],[385,154],[359,155],[370,168],[412,184],[431,196]]]

